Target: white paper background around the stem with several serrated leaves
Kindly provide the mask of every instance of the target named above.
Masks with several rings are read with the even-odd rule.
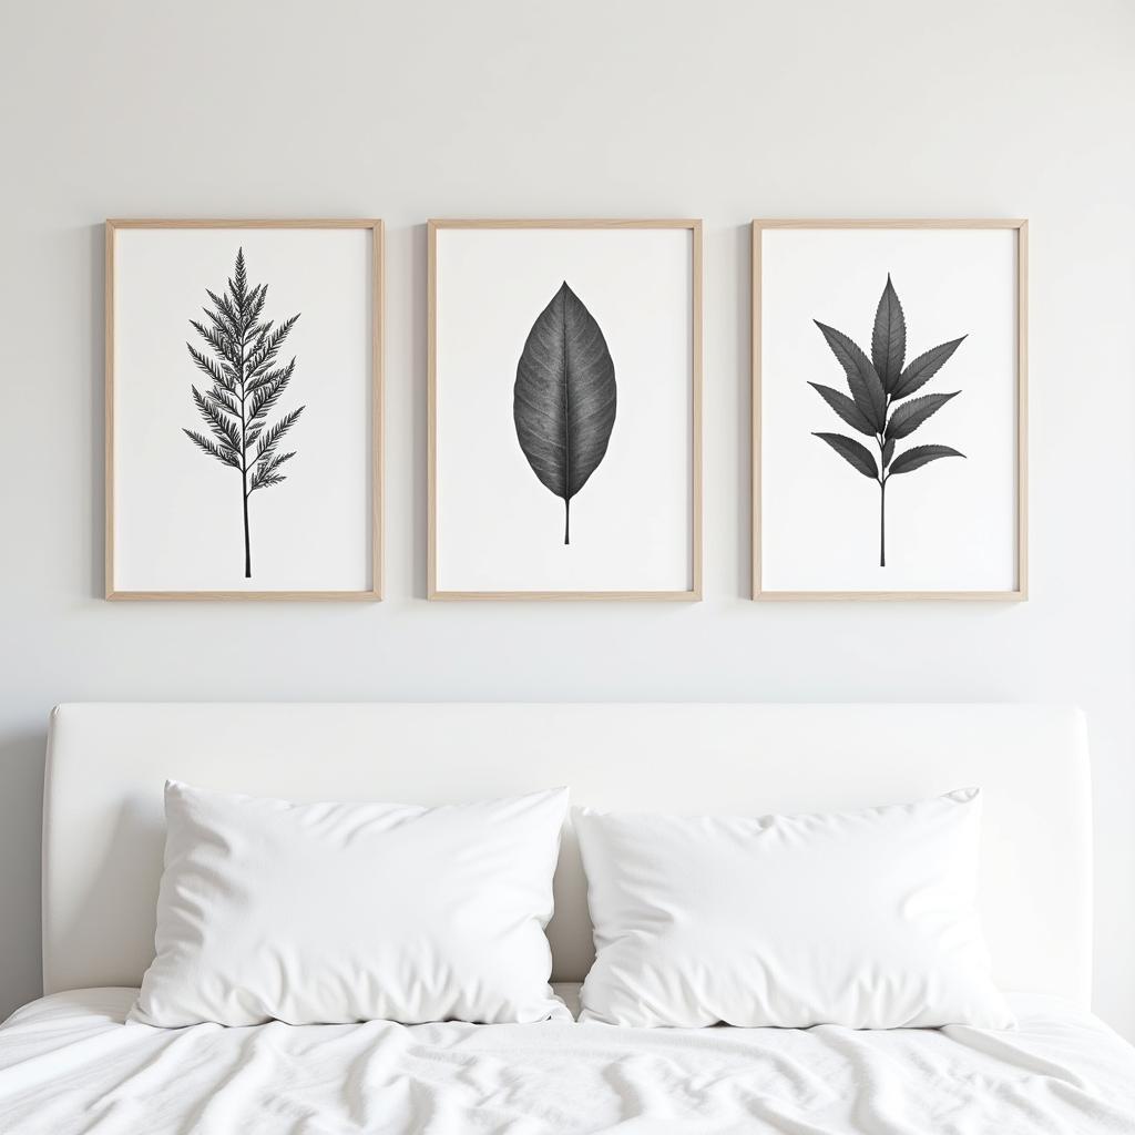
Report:
[[[1010,590],[1015,585],[1016,234],[1012,230],[768,229],[762,255],[762,587],[764,590]],[[960,390],[897,453],[943,457],[878,485],[813,432],[847,426],[808,386],[848,393],[813,319],[871,354],[886,274],[902,303],[907,361],[967,335],[919,390]]]

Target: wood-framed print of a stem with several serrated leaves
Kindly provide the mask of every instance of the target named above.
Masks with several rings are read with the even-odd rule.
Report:
[[[1023,220],[753,222],[757,599],[1024,599]]]

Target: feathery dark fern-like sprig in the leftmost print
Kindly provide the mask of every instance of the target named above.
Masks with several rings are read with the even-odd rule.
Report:
[[[244,516],[244,578],[252,578],[252,543],[249,532],[249,498],[258,489],[286,480],[280,466],[295,453],[278,453],[284,435],[296,423],[304,407],[292,410],[274,424],[268,412],[287,389],[295,372],[295,359],[277,365],[276,356],[300,318],[283,323],[261,320],[268,285],[249,287],[244,250],[236,253],[236,270],[228,291],[220,295],[205,288],[212,308],[204,308],[203,323],[191,319],[213,358],[186,343],[190,358],[212,382],[204,393],[195,386],[193,402],[211,437],[184,430],[202,452],[241,474],[241,510]]]

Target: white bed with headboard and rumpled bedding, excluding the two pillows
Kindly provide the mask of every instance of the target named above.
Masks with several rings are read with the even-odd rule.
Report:
[[[981,908],[1012,1031],[125,1024],[153,953],[167,777],[314,799],[836,809],[981,784]],[[1035,706],[68,705],[44,802],[44,998],[0,1028],[0,1132],[1135,1132],[1090,1009],[1084,723]],[[548,927],[591,959],[572,833]]]

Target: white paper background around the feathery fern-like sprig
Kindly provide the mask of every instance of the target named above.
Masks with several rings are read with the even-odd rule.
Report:
[[[191,385],[210,384],[186,342],[207,322],[243,246],[263,318],[301,312],[279,359],[296,356],[274,422],[305,406],[281,443],[283,485],[249,501],[241,478],[182,432],[208,436]],[[364,229],[119,229],[115,252],[115,585],[118,590],[365,590],[370,552],[371,234]]]

